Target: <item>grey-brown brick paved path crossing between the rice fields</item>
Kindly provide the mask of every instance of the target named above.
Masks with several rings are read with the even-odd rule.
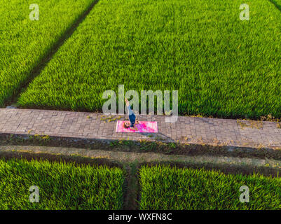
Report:
[[[118,118],[119,116],[114,116]],[[120,120],[126,119],[127,116]],[[277,123],[240,125],[237,120],[179,116],[177,123],[165,123],[165,116],[141,116],[158,122],[158,134],[116,133],[116,120],[102,120],[102,113],[0,109],[0,134],[46,134],[85,139],[158,139],[192,144],[281,148]]]

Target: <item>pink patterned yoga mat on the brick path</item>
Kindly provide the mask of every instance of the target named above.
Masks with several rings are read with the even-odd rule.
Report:
[[[137,131],[131,130],[130,127],[125,128],[123,123],[125,123],[125,120],[117,120],[116,132],[158,132],[157,121],[139,121],[139,124],[135,125]]]

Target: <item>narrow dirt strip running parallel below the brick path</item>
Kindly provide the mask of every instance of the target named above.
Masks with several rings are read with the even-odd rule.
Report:
[[[147,163],[147,162],[179,162],[213,165],[252,166],[281,169],[280,160],[259,158],[236,158],[226,156],[189,156],[189,155],[165,155],[161,153],[131,153],[103,150],[88,150],[84,148],[63,148],[47,146],[0,146],[0,154],[8,152],[17,153],[47,153],[50,155],[78,155],[85,158],[105,159],[109,162],[121,163]]]

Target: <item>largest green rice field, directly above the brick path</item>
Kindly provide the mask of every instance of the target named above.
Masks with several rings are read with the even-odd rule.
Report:
[[[179,90],[179,112],[281,117],[281,15],[249,0],[100,0],[19,102],[101,110],[104,90]]]

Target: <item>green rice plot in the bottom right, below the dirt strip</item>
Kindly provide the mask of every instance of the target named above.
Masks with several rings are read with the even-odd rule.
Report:
[[[281,179],[204,169],[142,167],[140,209],[281,209]],[[241,186],[249,203],[241,203]]]

